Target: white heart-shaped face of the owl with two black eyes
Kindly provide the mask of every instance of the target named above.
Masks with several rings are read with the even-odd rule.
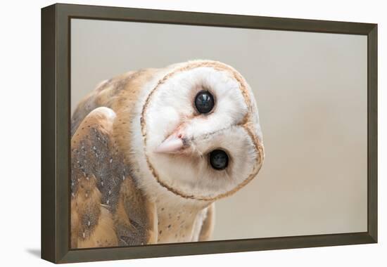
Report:
[[[167,190],[215,200],[246,185],[262,165],[253,93],[241,74],[214,61],[173,65],[141,113],[146,163]]]

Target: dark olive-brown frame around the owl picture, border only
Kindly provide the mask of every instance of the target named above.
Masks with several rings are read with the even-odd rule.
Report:
[[[368,39],[367,232],[70,249],[71,18],[366,35]],[[54,4],[42,8],[42,259],[54,263],[69,263],[375,242],[377,242],[376,24],[71,4]]]

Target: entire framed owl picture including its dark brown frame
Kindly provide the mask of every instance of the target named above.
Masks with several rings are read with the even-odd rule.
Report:
[[[42,8],[42,258],[377,242],[377,25]]]

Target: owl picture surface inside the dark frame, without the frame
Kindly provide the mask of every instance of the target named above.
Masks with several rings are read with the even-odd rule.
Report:
[[[71,248],[367,230],[367,37],[72,19],[71,51]]]

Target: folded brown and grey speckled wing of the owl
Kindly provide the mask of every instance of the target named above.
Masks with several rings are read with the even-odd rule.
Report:
[[[113,137],[115,112],[92,110],[71,138],[71,247],[156,242],[155,204],[137,188]]]

